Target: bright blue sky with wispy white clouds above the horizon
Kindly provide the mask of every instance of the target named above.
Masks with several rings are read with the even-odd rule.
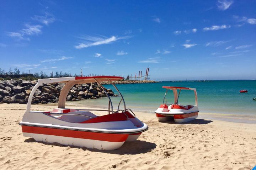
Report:
[[[256,1],[0,1],[0,68],[256,79]]]

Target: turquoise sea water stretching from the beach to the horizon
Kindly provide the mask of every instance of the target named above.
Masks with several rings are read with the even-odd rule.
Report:
[[[117,94],[112,85],[104,86],[111,88]],[[118,84],[116,86],[122,93],[127,108],[131,108],[134,111],[154,113],[163,102],[166,89],[163,89],[162,86],[181,86],[197,89],[200,112],[256,116],[256,101],[252,100],[252,98],[256,97],[256,80],[162,81],[145,84]],[[240,90],[248,90],[248,93],[240,93]],[[111,97],[114,108],[117,108],[120,99],[120,97]],[[168,92],[166,99],[168,104],[174,102],[172,91]],[[85,107],[107,108],[108,99],[102,98],[72,103]],[[194,104],[193,91],[182,90],[179,104]],[[122,104],[121,106],[123,107]]]

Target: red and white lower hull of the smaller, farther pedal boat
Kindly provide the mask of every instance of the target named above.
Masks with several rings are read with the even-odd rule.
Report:
[[[173,118],[176,123],[185,123],[198,117],[198,112],[185,114],[159,114],[155,112],[155,114],[158,121],[170,121]]]

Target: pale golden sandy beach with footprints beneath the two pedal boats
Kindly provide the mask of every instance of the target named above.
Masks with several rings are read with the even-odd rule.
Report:
[[[69,107],[69,106],[67,106]],[[49,111],[56,106],[33,105]],[[78,107],[72,107],[78,108]],[[22,136],[25,104],[0,104],[1,169],[227,169],[256,165],[256,124],[196,119],[160,123],[135,112],[149,130],[114,151],[39,143]],[[102,114],[102,113],[99,113]],[[199,113],[200,114],[200,113]]]

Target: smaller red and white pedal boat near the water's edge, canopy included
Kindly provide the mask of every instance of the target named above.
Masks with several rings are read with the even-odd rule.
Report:
[[[156,117],[159,121],[169,121],[174,118],[176,123],[184,123],[197,118],[198,116],[198,106],[197,106],[197,92],[194,88],[189,87],[170,87],[163,86],[166,89],[163,104],[155,111]],[[174,93],[174,103],[167,104],[166,94],[168,90],[172,90]],[[179,90],[179,93],[177,93]],[[195,105],[182,106],[178,104],[178,98],[180,96],[181,90],[193,90],[195,96]]]

